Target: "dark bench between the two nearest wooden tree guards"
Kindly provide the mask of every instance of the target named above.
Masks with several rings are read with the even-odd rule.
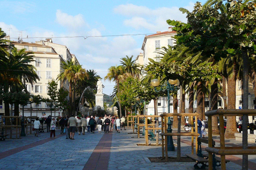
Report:
[[[207,165],[207,163],[209,163],[209,157],[208,154],[203,154],[202,153],[202,147],[201,147],[201,143],[207,143],[208,144],[208,139],[204,139],[204,138],[198,138],[198,151],[197,151],[197,155],[193,155],[193,154],[186,154],[186,156],[188,158],[191,158],[193,160],[195,160],[196,164],[194,165],[195,169],[205,169]],[[215,141],[212,140],[212,146],[215,146]],[[215,157],[215,154],[213,154],[212,156],[213,159],[213,169],[216,170],[217,166],[221,166],[220,162],[221,159],[219,157]],[[226,163],[230,162],[229,160],[226,160]],[[198,166],[198,164],[202,164],[201,167]]]

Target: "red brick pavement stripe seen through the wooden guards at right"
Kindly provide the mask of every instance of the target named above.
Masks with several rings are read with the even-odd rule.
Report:
[[[191,145],[191,142],[188,141],[188,140],[181,139],[181,141],[184,142],[184,143],[186,143],[187,145]],[[215,140],[215,141],[216,141],[216,142],[220,142],[220,141],[218,141],[218,140]],[[237,147],[237,145],[234,144],[234,143],[228,143],[228,142],[226,142],[225,145],[232,146],[232,147]],[[202,145],[201,147],[204,148],[204,149],[206,148],[206,146],[203,146],[203,145]],[[237,164],[237,165],[242,166],[242,162],[243,162],[243,159],[242,159],[242,158],[238,158],[238,157],[233,156],[233,155],[226,155],[226,159],[227,159],[227,160],[230,160],[230,162],[233,162],[233,163],[235,163],[235,164]],[[248,160],[248,168],[250,168],[250,169],[255,169],[255,167],[256,167],[256,163],[251,162],[250,160]]]

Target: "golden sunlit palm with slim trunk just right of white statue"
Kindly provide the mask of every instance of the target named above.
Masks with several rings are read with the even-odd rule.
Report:
[[[119,66],[111,66],[108,69],[108,73],[104,80],[109,80],[109,81],[115,81],[116,86],[117,86],[117,93],[116,96],[119,100],[118,105],[119,105],[119,111],[120,111],[120,117],[122,117],[122,110],[121,110],[121,100],[119,98],[120,94],[120,88],[119,88],[119,82],[124,79],[124,67],[119,65]]]

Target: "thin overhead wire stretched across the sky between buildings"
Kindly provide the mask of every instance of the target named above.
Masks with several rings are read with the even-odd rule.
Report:
[[[108,35],[108,36],[63,36],[63,37],[26,37],[26,38],[21,38],[21,39],[34,39],[34,38],[90,38],[90,37],[121,37],[121,36],[141,36],[141,35],[152,35],[153,33],[138,33],[138,34],[122,34],[122,35]],[[18,38],[11,38],[11,39],[19,39]]]

